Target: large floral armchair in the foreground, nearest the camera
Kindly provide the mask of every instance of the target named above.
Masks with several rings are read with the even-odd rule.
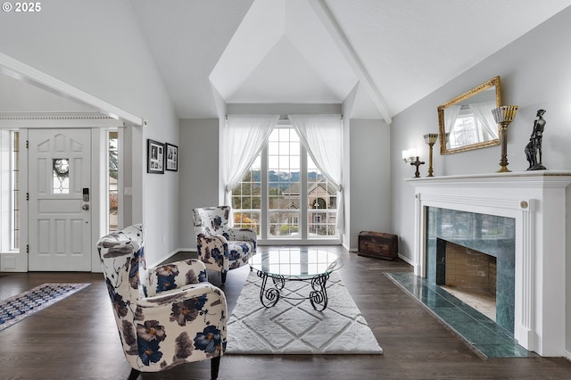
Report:
[[[147,270],[143,227],[135,225],[97,242],[112,302],[128,379],[193,361],[211,359],[218,376],[227,343],[224,293],[208,283],[200,260]]]

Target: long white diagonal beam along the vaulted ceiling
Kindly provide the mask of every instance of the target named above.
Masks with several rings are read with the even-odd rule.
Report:
[[[349,40],[343,34],[343,30],[335,20],[335,17],[329,11],[327,4],[325,4],[324,0],[308,0],[313,10],[319,17],[319,20],[323,24],[323,26],[327,29],[335,44],[341,50],[341,53],[349,62],[352,67],[352,70],[355,71],[355,75],[360,80],[360,84],[365,88],[370,95],[372,102],[377,107],[378,112],[381,114],[383,119],[387,124],[391,124],[393,121],[391,112],[389,112],[389,108],[386,105],[385,99],[381,92],[378,90],[377,86],[368,75],[368,71],[363,66],[363,63],[360,62],[359,56],[355,53],[355,50],[352,48],[352,45],[349,43]]]

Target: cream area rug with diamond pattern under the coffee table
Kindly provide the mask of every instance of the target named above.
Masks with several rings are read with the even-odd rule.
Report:
[[[383,353],[335,273],[327,280],[328,303],[323,311],[313,310],[309,300],[285,298],[265,308],[260,287],[261,278],[252,271],[228,318],[227,354]],[[309,289],[309,283],[286,281],[282,295],[299,298],[307,296]]]

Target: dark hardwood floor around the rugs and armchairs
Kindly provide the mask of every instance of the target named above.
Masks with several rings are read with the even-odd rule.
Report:
[[[263,249],[264,247],[261,247]],[[352,294],[384,355],[225,355],[219,379],[569,379],[563,358],[485,359],[441,325],[422,305],[385,277],[409,271],[402,260],[360,257],[340,247],[340,277]],[[178,256],[182,256],[179,254]],[[176,259],[180,259],[177,257]],[[248,268],[228,273],[226,293],[232,310]],[[126,379],[129,366],[120,350],[117,327],[103,283],[90,273],[0,273],[0,299],[48,282],[92,285],[0,331],[0,378]],[[211,274],[219,285],[219,274]],[[210,363],[197,362],[150,379],[208,379]]]

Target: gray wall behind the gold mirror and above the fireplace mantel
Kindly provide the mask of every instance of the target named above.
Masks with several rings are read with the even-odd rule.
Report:
[[[571,8],[518,38],[458,78],[451,78],[433,94],[426,96],[393,118],[391,125],[391,220],[395,233],[402,236],[400,253],[412,259],[414,190],[403,178],[412,177],[413,169],[401,161],[401,151],[416,145],[422,160],[428,159],[428,147],[423,135],[437,132],[436,107],[456,95],[493,78],[501,77],[504,104],[517,104],[516,120],[509,126],[509,169],[525,170],[524,147],[534,125],[538,109],[547,110],[543,135],[543,165],[548,169],[571,169]],[[468,41],[467,41],[468,43]],[[500,146],[466,153],[441,156],[440,146],[434,145],[434,175],[492,173],[500,168]],[[423,165],[421,176],[426,176]],[[567,192],[569,193],[569,192]],[[567,212],[568,214],[568,212]],[[568,218],[568,217],[567,217]],[[569,231],[567,223],[567,231]],[[567,252],[567,256],[569,256]],[[571,260],[567,278],[571,278]],[[564,291],[564,290],[562,290]],[[567,315],[571,315],[571,286],[567,285]],[[567,317],[567,351],[571,342],[571,318]]]

